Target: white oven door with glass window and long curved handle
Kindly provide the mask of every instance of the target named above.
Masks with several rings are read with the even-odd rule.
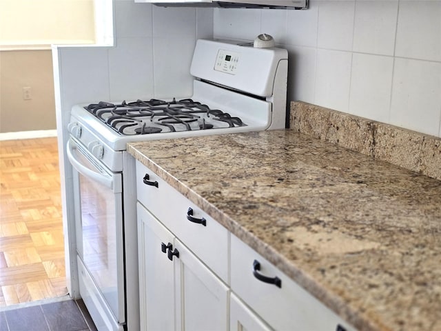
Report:
[[[76,250],[87,270],[87,275],[79,275],[81,297],[96,319],[107,317],[121,324],[125,322],[122,175],[107,170],[72,137],[67,151],[74,168]],[[92,279],[82,286],[87,293],[81,292],[81,277]],[[114,322],[103,321],[112,325],[108,330],[114,329]]]

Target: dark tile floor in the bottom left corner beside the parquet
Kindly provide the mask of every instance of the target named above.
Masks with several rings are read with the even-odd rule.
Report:
[[[96,331],[81,299],[0,312],[0,331]]]

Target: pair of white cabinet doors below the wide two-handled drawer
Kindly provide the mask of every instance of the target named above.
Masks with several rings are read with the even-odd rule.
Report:
[[[227,330],[227,286],[138,203],[141,330]]]

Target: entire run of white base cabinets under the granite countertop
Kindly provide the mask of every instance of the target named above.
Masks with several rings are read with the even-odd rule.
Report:
[[[141,330],[355,330],[140,162],[136,177]]]

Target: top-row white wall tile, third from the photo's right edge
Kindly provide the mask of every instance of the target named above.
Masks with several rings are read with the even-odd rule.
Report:
[[[352,50],[355,1],[320,1],[318,48]]]

